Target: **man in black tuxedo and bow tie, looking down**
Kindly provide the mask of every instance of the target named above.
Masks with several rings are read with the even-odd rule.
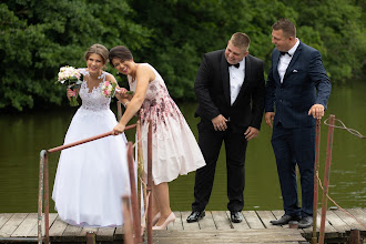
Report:
[[[234,33],[225,50],[205,53],[201,62],[194,84],[199,101],[195,116],[201,118],[199,144],[206,165],[196,171],[193,212],[187,222],[205,215],[223,141],[227,209],[232,222],[243,220],[246,145],[260,132],[265,103],[263,61],[248,54],[250,42],[245,33]]]

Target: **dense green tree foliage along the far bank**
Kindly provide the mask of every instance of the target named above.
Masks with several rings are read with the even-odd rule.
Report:
[[[250,52],[265,61],[267,72],[271,26],[284,17],[294,21],[302,41],[321,51],[332,82],[364,77],[366,70],[364,0],[2,2],[0,111],[67,104],[64,88],[54,84],[59,68],[84,67],[83,53],[94,43],[125,44],[136,62],[159,70],[174,99],[194,100],[203,54],[224,49],[234,32],[251,37]]]

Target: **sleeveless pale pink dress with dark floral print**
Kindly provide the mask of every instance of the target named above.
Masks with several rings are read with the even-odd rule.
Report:
[[[180,109],[170,96],[166,85],[157,71],[146,90],[141,110],[142,148],[148,171],[148,129],[152,122],[152,175],[155,184],[170,182],[177,175],[187,174],[205,165],[200,146]],[[128,78],[131,91],[136,90],[139,81]]]

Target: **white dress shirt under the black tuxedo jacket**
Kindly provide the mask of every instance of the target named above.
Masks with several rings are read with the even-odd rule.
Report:
[[[230,102],[233,103],[236,100],[238,92],[244,82],[245,78],[245,58],[240,61],[240,67],[236,68],[234,65],[228,67],[228,74],[230,74]]]

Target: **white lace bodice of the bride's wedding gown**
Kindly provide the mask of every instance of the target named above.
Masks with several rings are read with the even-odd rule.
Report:
[[[84,77],[89,75],[89,72],[85,69],[81,69],[81,73]],[[102,94],[102,84],[105,81],[106,74],[108,72],[103,71],[102,75],[100,77],[100,79],[102,79],[102,82],[96,88],[93,88],[91,92],[89,92],[88,81],[85,79],[83,80],[79,92],[80,98],[82,100],[82,105],[81,105],[82,109],[92,110],[92,111],[110,109],[111,99],[105,98]]]

